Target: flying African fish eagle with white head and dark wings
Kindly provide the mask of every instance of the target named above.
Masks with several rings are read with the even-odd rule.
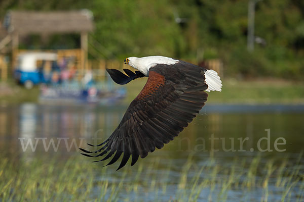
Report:
[[[108,153],[99,161],[115,154],[107,165],[115,163],[124,153],[117,170],[126,165],[131,155],[133,166],[139,156],[145,158],[155,147],[160,149],[173,140],[205,105],[208,96],[205,91],[221,91],[222,86],[215,71],[181,60],[163,56],[130,57],[125,64],[138,71],[133,73],[124,69],[124,74],[116,69],[106,69],[113,81],[127,84],[147,76],[146,84],[109,138],[98,145],[89,144],[103,145],[100,149],[80,148],[88,157],[102,157]]]

